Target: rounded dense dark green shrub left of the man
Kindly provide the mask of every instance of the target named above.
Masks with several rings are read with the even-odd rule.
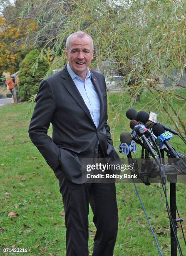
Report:
[[[47,73],[49,65],[43,58],[38,59],[37,69],[32,69],[32,65],[38,58],[39,54],[40,52],[34,49],[30,51],[30,53],[25,56],[25,59],[20,63],[19,96],[23,100],[27,100],[37,93],[38,86]]]

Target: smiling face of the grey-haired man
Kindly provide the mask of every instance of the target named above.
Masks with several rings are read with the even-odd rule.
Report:
[[[87,67],[93,59],[94,50],[91,47],[91,40],[87,35],[79,37],[72,36],[68,51],[65,50],[71,69],[79,77],[85,79]]]

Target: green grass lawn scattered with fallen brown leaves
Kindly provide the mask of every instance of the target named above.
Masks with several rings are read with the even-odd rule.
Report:
[[[119,146],[119,134],[130,131],[125,116],[130,107],[127,95],[109,95],[109,120],[114,146]],[[121,107],[122,102],[122,107]],[[178,109],[181,108],[179,103]],[[133,108],[157,112],[148,94]],[[28,137],[32,114],[28,103],[0,108],[0,248],[29,248],[29,255],[65,255],[65,224],[62,196],[54,172],[46,164]],[[27,115],[28,114],[28,115]],[[185,114],[183,114],[185,115]],[[159,121],[171,126],[169,117],[160,112]],[[172,126],[173,127],[173,126]],[[49,129],[51,135],[52,129]],[[184,143],[174,138],[171,145],[185,153]],[[140,148],[138,147],[138,154]],[[170,229],[163,190],[159,184],[137,184],[151,225],[164,255],[170,255]],[[177,207],[186,219],[186,184],[176,184]],[[169,184],[167,184],[169,195]],[[117,184],[119,228],[114,256],[156,256],[158,250],[137,198],[134,185]],[[95,226],[89,214],[89,251],[92,253]],[[129,218],[130,217],[130,218]],[[110,223],[112,225],[112,223]],[[186,234],[186,223],[183,223]],[[178,236],[186,255],[181,228]],[[28,255],[28,253],[26,253]],[[1,254],[0,254],[1,255]]]

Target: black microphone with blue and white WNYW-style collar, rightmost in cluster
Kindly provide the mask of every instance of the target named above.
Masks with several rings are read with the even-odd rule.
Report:
[[[156,143],[159,146],[163,146],[164,144],[166,145],[166,147],[169,150],[169,153],[171,154],[171,156],[176,157],[177,159],[179,159],[179,155],[176,153],[176,151],[174,150],[174,148],[170,145],[169,140],[173,137],[173,134],[170,133],[169,131],[164,130],[164,127],[160,124],[156,124],[153,126],[152,128],[153,133],[158,137],[156,139]]]

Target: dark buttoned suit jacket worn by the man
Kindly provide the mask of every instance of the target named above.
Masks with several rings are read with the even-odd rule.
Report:
[[[107,91],[102,74],[91,71],[100,98],[96,128],[89,110],[65,67],[40,83],[29,127],[32,143],[54,172],[61,167],[66,179],[81,184],[81,159],[97,158],[98,141],[107,158],[119,160],[107,125]],[[52,138],[47,130],[52,123]]]

